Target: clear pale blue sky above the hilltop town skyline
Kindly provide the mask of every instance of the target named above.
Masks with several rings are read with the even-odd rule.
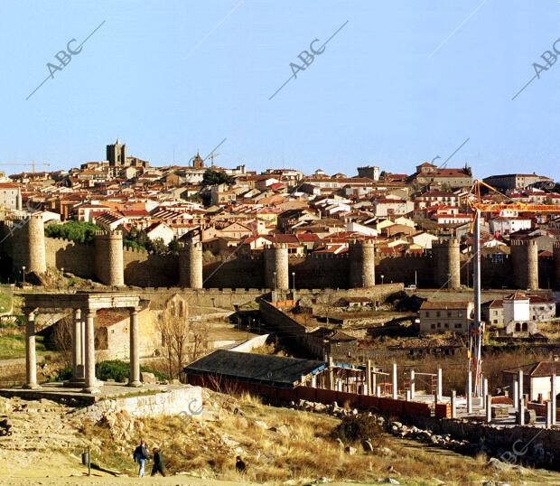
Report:
[[[559,20],[557,0],[3,0],[0,170],[102,160],[118,136],[156,165],[227,137],[216,164],[412,173],[468,138],[448,166],[558,180],[560,61],[511,98]],[[26,100],[54,55],[104,21]]]

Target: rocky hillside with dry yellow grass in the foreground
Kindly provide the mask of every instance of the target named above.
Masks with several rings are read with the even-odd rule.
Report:
[[[309,410],[315,404],[296,407]],[[93,423],[80,409],[50,400],[0,398],[0,484],[138,484],[131,453],[141,437],[162,449],[170,474],[142,480],[148,484],[560,484],[560,474],[513,469],[445,450],[451,440],[405,430],[380,416],[374,418],[387,434],[343,443],[331,437],[331,430],[357,411],[319,408],[316,412],[327,413],[205,391],[201,419],[138,419],[117,411]],[[87,446],[92,461],[109,472],[94,470],[84,477],[80,453]],[[247,462],[246,474],[235,472],[236,455]]]

